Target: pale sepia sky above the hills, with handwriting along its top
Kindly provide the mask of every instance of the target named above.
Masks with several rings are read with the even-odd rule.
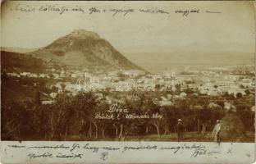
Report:
[[[123,16],[111,12],[38,11],[39,7],[134,8]],[[20,7],[35,11],[16,11]],[[161,9],[169,14],[136,12]],[[176,10],[199,10],[189,16]],[[214,11],[220,13],[208,13]],[[76,29],[94,31],[121,52],[254,52],[253,2],[5,2],[1,45],[41,48]]]

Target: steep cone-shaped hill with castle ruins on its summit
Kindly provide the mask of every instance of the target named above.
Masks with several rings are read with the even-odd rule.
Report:
[[[71,34],[28,54],[66,66],[142,70],[122,56],[106,39],[87,30],[74,30]]]

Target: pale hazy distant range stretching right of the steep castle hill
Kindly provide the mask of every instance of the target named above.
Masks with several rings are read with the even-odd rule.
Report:
[[[211,67],[254,65],[254,52],[123,52],[150,73],[205,70]]]

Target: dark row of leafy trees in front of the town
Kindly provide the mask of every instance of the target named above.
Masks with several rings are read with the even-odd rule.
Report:
[[[111,93],[104,93],[111,95]],[[213,130],[216,120],[222,119],[226,112],[223,101],[215,101],[220,107],[208,107],[213,101],[206,97],[190,97],[176,101],[171,106],[161,107],[153,102],[151,94],[135,92],[137,98],[126,98],[124,103],[129,112],[136,114],[158,113],[162,119],[95,119],[97,112],[106,112],[111,104],[99,99],[92,92],[71,96],[60,93],[53,104],[40,103],[39,94],[34,101],[24,100],[11,103],[2,102],[3,140],[69,140],[69,139],[124,139],[126,136],[165,135],[176,132],[177,119],[181,118],[185,131],[205,134]],[[112,95],[118,97],[117,95]],[[199,105],[191,108],[191,105]],[[236,115],[240,116],[246,130],[254,131],[254,112],[249,110],[245,100],[235,103]]]

